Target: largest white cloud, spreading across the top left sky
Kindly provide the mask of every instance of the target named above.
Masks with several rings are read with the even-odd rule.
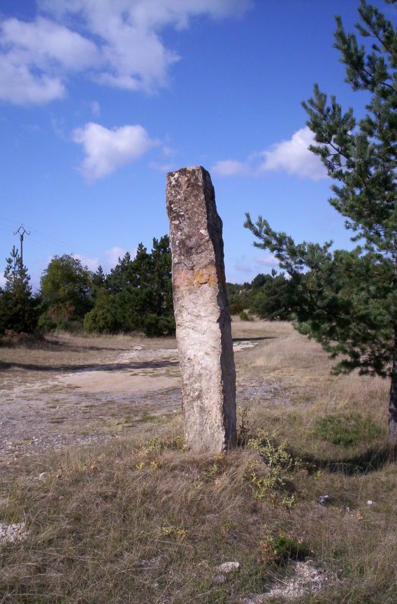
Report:
[[[36,20],[0,21],[0,99],[45,103],[65,94],[68,73],[113,87],[154,92],[180,57],[165,27],[194,17],[243,15],[252,0],[39,0]]]

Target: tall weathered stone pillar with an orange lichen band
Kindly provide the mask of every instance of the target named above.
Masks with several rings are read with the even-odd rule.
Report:
[[[201,166],[167,175],[173,303],[187,445],[236,445],[236,368],[224,275],[222,220]]]

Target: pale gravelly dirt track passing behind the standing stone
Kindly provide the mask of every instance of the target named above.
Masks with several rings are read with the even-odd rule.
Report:
[[[236,338],[236,364],[264,340]],[[272,398],[280,383],[238,372],[238,403]],[[0,460],[113,438],[180,410],[175,340],[71,338],[0,348]]]

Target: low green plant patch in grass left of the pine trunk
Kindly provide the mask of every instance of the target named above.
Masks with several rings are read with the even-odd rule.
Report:
[[[379,436],[380,432],[379,426],[359,413],[326,415],[315,422],[315,433],[319,438],[342,447],[368,442]]]

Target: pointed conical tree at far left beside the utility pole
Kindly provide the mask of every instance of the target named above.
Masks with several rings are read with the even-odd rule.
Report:
[[[36,329],[36,304],[31,294],[27,268],[22,265],[15,246],[6,263],[6,284],[0,290],[0,331],[10,329],[18,333],[31,333]]]

